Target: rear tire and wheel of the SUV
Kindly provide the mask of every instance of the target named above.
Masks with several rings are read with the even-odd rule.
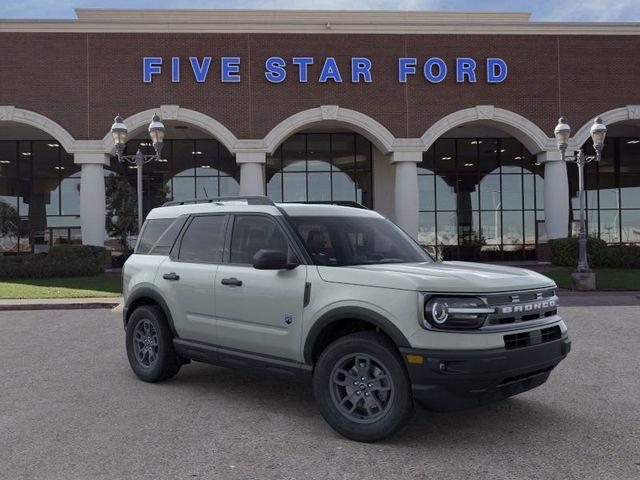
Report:
[[[160,382],[180,370],[173,335],[156,305],[142,305],[133,311],[127,322],[126,345],[129,364],[140,380]]]

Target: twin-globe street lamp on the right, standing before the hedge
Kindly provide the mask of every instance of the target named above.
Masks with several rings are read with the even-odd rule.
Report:
[[[591,126],[591,139],[593,140],[593,148],[596,151],[594,155],[585,155],[582,149],[573,154],[567,155],[567,147],[569,145],[569,137],[571,136],[571,127],[567,120],[562,117],[558,120],[558,125],[554,130],[558,150],[562,154],[562,160],[574,162],[578,166],[578,191],[580,195],[580,237],[578,240],[579,258],[578,273],[590,273],[589,262],[587,259],[587,229],[585,221],[585,192],[584,192],[584,166],[590,162],[599,162],[602,157],[602,149],[604,148],[604,139],[607,135],[607,127],[602,123],[600,117],[596,118]]]

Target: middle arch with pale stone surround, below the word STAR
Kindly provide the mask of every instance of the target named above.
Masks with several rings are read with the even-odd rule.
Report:
[[[264,138],[266,194],[276,201],[350,201],[393,216],[394,136],[360,112],[325,105],[299,112]]]

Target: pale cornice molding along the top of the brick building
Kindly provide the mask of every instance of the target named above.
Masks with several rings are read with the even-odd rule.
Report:
[[[530,22],[529,13],[77,9],[77,19],[0,19],[0,32],[638,35],[640,23]]]

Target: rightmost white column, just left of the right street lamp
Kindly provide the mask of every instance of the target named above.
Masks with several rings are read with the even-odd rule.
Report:
[[[569,179],[567,164],[560,152],[542,152],[538,162],[544,163],[544,217],[547,236],[565,238],[569,235]]]

